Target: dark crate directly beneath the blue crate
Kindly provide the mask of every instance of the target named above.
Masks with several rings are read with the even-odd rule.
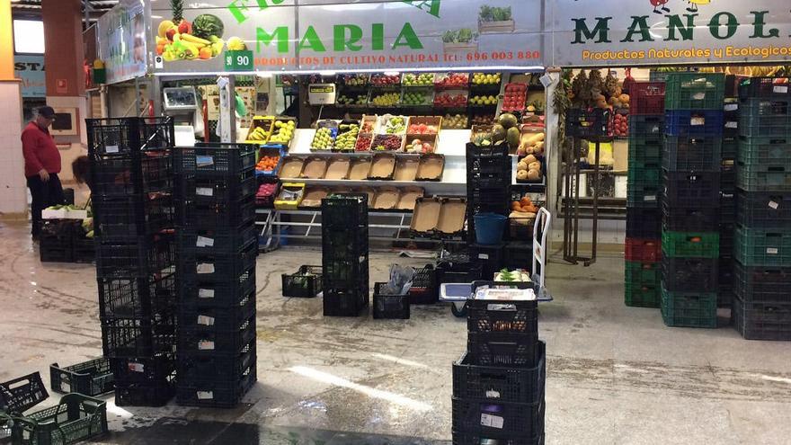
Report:
[[[662,151],[662,167],[671,172],[718,172],[722,148],[722,138],[668,136]]]

